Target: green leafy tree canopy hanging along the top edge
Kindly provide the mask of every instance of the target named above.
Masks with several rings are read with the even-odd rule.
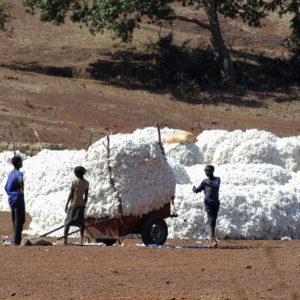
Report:
[[[132,39],[143,17],[156,24],[172,19],[176,15],[172,4],[188,5],[195,10],[214,9],[225,17],[241,17],[249,25],[259,26],[265,16],[262,3],[253,0],[24,0],[27,11],[34,13],[37,9],[42,21],[64,23],[69,11],[73,22],[85,23],[92,33],[112,30],[113,37],[123,41]]]

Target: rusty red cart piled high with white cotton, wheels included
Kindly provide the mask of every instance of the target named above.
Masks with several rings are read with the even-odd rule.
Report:
[[[102,141],[107,161],[104,172],[109,185],[106,194],[116,205],[113,217],[107,214],[91,216],[88,209],[85,232],[97,242],[112,245],[126,235],[140,234],[145,245],[165,243],[168,227],[164,219],[174,217],[171,202],[176,183],[164,157],[158,132],[158,143],[151,141],[153,131],[149,132],[150,142],[142,131],[128,135],[130,140],[126,141],[125,137],[125,146],[122,147],[115,136],[108,136],[106,141]],[[141,133],[144,138],[138,139]],[[97,146],[101,145],[93,145],[94,148]],[[98,203],[103,201],[105,199],[99,199]]]

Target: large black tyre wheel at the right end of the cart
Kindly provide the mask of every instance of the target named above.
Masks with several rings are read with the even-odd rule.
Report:
[[[168,237],[168,226],[162,218],[149,217],[142,226],[141,235],[145,245],[163,245]]]

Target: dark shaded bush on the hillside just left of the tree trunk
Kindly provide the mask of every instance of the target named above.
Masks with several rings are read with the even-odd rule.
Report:
[[[201,85],[216,85],[222,81],[221,70],[216,64],[213,49],[195,49],[184,42],[173,44],[173,35],[160,37],[147,47],[153,64],[149,75],[155,87],[167,87],[180,97],[191,97]]]

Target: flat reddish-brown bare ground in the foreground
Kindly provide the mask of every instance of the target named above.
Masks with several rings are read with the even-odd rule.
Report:
[[[3,236],[12,238],[10,213],[0,213],[0,228]],[[300,240],[224,240],[219,249],[141,247],[141,240],[135,239],[123,243],[0,245],[0,299],[300,297]],[[206,241],[167,243],[187,247]]]

